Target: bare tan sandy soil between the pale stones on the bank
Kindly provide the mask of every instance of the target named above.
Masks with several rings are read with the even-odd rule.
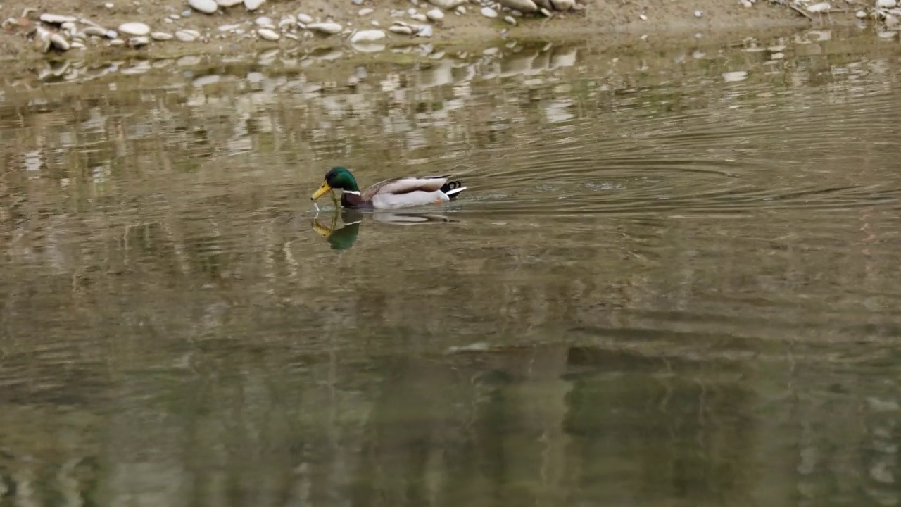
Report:
[[[290,47],[307,45],[311,47],[329,46],[346,43],[346,36],[316,35],[309,39],[293,41],[283,38],[280,41],[262,41],[255,37],[241,37],[236,34],[219,32],[218,28],[225,24],[249,23],[261,15],[266,15],[278,23],[284,14],[309,14],[323,20],[331,18],[340,23],[350,23],[355,29],[373,28],[372,21],[380,23],[382,28],[391,24],[390,9],[408,9],[414,7],[410,0],[364,0],[362,5],[354,5],[350,0],[268,0],[258,11],[250,13],[243,5],[236,5],[212,15],[194,13],[177,21],[168,20],[170,14],[180,14],[187,9],[185,0],[126,1],[109,0],[112,7],[105,2],[85,2],[84,0],[5,0],[2,3],[3,19],[20,18],[26,7],[36,8],[30,14],[32,19],[42,13],[69,14],[86,17],[106,28],[115,29],[120,23],[140,21],[148,23],[154,31],[175,32],[178,29],[193,29],[202,32],[202,41],[154,41],[150,46],[141,49],[109,47],[108,41],[98,40],[89,43],[86,50],[68,51],[63,57],[72,54],[83,58],[85,53],[93,54],[130,54],[143,51],[150,56],[167,56],[186,54],[189,52],[232,53],[254,51],[267,47]],[[805,26],[811,20],[796,14],[786,7],[769,4],[766,0],[758,0],[751,7],[742,6],[738,0],[579,0],[584,9],[578,12],[556,13],[551,18],[522,18],[517,26],[511,26],[501,19],[488,19],[478,14],[478,5],[468,5],[469,13],[456,15],[449,12],[445,18],[434,24],[434,36],[431,39],[414,38],[407,35],[391,34],[392,43],[447,43],[450,41],[491,41],[502,36],[511,38],[547,38],[565,39],[571,37],[588,37],[595,35],[628,34],[660,34],[661,32],[717,32],[754,30],[773,27]],[[423,8],[424,6],[424,8]],[[369,7],[372,14],[359,16],[359,9]],[[432,8],[421,0],[419,12]],[[696,11],[702,15],[696,16]],[[642,14],[647,19],[642,20]],[[833,21],[835,18],[833,16]],[[23,27],[14,26],[11,30],[0,32],[0,59],[34,60],[48,58],[36,51],[28,40],[29,22],[22,21]],[[32,21],[32,26],[33,26]],[[299,33],[303,35],[303,32]],[[50,53],[50,58],[59,58],[59,54]]]

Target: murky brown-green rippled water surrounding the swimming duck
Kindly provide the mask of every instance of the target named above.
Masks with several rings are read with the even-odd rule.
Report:
[[[5,76],[0,506],[901,502],[897,41],[497,50]]]

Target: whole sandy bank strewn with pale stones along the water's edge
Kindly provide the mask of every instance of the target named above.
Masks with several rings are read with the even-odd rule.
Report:
[[[781,0],[778,0],[781,2]],[[844,2],[844,0],[841,0]],[[897,0],[849,10],[817,0],[693,0],[642,5],[599,0],[109,0],[5,3],[0,54],[6,60],[86,52],[172,54],[266,47],[350,45],[359,52],[397,44],[507,37],[566,37],[665,30],[704,32],[787,24],[879,23],[901,18]],[[849,14],[850,13],[850,14]]]

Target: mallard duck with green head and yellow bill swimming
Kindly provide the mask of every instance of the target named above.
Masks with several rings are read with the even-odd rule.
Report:
[[[310,198],[316,200],[332,189],[341,189],[341,206],[355,209],[398,209],[401,207],[442,204],[457,198],[466,189],[450,176],[405,176],[378,183],[360,193],[357,180],[343,167],[325,173],[322,186]],[[332,194],[334,198],[334,194]]]

